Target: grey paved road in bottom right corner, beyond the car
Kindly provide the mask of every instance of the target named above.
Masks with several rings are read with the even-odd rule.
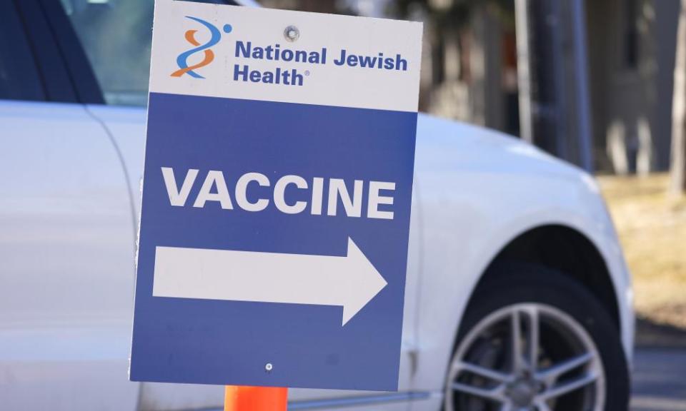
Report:
[[[686,411],[686,350],[635,352],[632,411]]]

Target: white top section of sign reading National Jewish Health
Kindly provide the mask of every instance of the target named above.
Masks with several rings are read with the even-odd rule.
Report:
[[[212,42],[212,29],[189,17],[217,29],[215,38],[221,35],[217,44],[202,49]],[[296,41],[288,41],[284,34],[291,26],[299,31]],[[251,57],[245,58],[248,42]],[[208,59],[206,50],[211,51],[212,61],[194,69],[204,78],[172,76],[180,68],[179,55],[194,48],[202,50],[182,63],[201,64]],[[158,0],[150,91],[417,111],[421,49],[422,24],[417,22]],[[324,50],[326,63],[322,64]],[[264,58],[252,58],[255,53]],[[269,54],[272,59],[267,58]],[[307,61],[302,61],[303,56]],[[289,57],[291,61],[283,61]],[[277,80],[280,83],[264,82]]]

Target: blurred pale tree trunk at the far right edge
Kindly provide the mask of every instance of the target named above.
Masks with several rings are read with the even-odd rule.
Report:
[[[686,192],[686,0],[681,0],[672,103],[672,192]]]

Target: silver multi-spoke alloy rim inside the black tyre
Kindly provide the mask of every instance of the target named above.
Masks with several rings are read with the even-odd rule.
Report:
[[[551,305],[501,308],[455,351],[445,411],[602,411],[605,371],[585,328]]]

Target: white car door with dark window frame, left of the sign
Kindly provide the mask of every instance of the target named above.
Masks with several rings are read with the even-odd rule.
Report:
[[[134,410],[126,179],[45,5],[0,1],[0,407]]]

